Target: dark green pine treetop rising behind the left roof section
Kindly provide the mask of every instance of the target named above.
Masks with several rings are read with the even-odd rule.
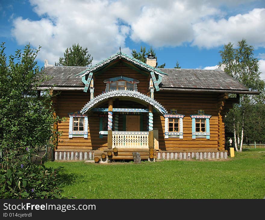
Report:
[[[89,66],[92,64],[93,57],[88,53],[88,49],[83,49],[79,44],[73,44],[64,52],[64,57],[60,57],[55,66]]]

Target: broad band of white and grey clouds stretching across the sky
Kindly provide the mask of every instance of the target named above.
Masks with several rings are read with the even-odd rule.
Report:
[[[58,61],[67,47],[79,43],[94,63],[121,50],[131,54],[126,39],[157,47],[193,45],[202,48],[245,38],[265,47],[265,9],[224,18],[220,10],[253,0],[30,0],[39,20],[16,17],[12,35],[21,45],[42,46],[39,58]],[[263,57],[260,57],[263,59]]]

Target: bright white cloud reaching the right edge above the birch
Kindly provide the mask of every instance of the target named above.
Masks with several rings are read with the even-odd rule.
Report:
[[[207,49],[232,42],[236,44],[242,38],[248,44],[265,47],[265,8],[255,8],[247,14],[237,14],[221,20],[209,19],[193,25],[194,46]]]

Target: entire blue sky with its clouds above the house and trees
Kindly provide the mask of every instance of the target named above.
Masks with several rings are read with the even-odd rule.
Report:
[[[158,64],[214,69],[228,42],[254,46],[265,79],[265,1],[0,1],[0,41],[7,55],[30,42],[42,46],[39,66],[54,64],[79,43],[94,63],[152,46]]]

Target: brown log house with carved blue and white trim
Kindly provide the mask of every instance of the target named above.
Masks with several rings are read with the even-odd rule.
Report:
[[[224,117],[259,94],[220,69],[155,68],[122,52],[92,67],[46,66],[61,132],[56,160],[226,159]],[[237,94],[229,98],[228,94]]]

